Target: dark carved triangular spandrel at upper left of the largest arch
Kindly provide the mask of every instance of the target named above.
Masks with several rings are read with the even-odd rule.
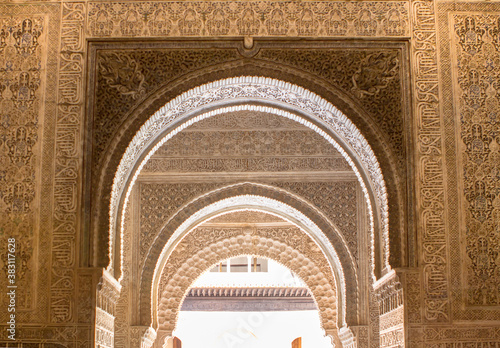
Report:
[[[151,92],[190,71],[239,57],[236,50],[228,49],[99,52],[92,170],[97,171],[102,164],[113,134],[124,122],[123,117],[131,117],[129,111],[144,102]]]

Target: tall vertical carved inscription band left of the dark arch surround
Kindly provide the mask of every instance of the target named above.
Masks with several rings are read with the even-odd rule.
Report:
[[[79,235],[79,188],[81,181],[81,127],[83,115],[83,70],[85,39],[83,33],[86,6],[82,2],[62,5],[61,52],[57,87],[55,124],[55,174],[53,185],[54,220],[50,320],[54,323],[74,320],[75,266]],[[57,268],[56,268],[57,267]]]

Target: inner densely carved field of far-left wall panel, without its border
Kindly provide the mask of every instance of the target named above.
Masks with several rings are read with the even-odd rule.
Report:
[[[34,250],[38,227],[35,212],[40,163],[40,125],[46,80],[48,21],[33,13],[0,17],[0,264],[7,285],[8,238],[15,238],[16,301],[32,306]],[[8,297],[0,302],[8,308]],[[7,312],[5,312],[7,318]]]

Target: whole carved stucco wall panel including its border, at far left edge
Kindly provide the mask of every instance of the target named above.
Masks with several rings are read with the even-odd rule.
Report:
[[[52,163],[46,134],[54,122],[60,8],[3,3],[0,13],[0,286],[8,279],[7,238],[15,238],[16,319],[44,321],[48,293],[40,280],[50,276],[50,253],[39,250],[50,248],[53,170],[40,166]],[[8,297],[1,299],[8,308]]]

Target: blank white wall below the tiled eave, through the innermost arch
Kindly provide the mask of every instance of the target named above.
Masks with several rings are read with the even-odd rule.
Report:
[[[291,348],[297,337],[303,348],[332,348],[318,311],[181,311],[174,335],[182,348]]]

